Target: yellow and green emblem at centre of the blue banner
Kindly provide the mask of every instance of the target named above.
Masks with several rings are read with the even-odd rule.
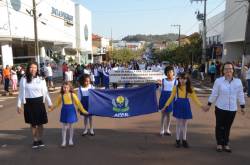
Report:
[[[127,97],[118,96],[117,98],[113,98],[113,111],[117,113],[127,112],[129,110],[128,102],[129,101]]]

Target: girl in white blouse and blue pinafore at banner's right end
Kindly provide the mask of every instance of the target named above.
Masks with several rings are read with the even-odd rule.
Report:
[[[164,70],[167,78],[162,79],[161,85],[161,96],[159,101],[159,109],[162,109],[169,99],[174,86],[177,84],[177,80],[174,78],[174,68],[172,66],[167,66]],[[171,122],[171,112],[173,111],[173,102],[161,113],[161,130],[160,135],[171,136],[170,132],[170,122]],[[166,126],[166,131],[165,131]]]

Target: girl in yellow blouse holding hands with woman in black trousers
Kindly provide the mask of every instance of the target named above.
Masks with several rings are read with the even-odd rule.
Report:
[[[181,147],[182,140],[182,146],[188,148],[187,121],[193,118],[189,98],[191,98],[204,111],[205,106],[202,106],[191,86],[189,77],[185,73],[179,74],[178,85],[173,88],[171,96],[162,108],[162,111],[165,111],[171,105],[174,98],[173,116],[176,118],[176,147]],[[180,137],[181,133],[182,138]]]

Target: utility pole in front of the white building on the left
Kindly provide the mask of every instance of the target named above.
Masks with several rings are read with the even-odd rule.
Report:
[[[33,1],[33,20],[34,20],[34,35],[35,35],[35,56],[38,63],[38,69],[40,68],[40,56],[39,56],[39,43],[37,38],[37,17],[36,17],[36,2]]]

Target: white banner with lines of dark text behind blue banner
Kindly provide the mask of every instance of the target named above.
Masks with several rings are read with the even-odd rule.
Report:
[[[153,72],[151,70],[123,70],[123,71],[110,71],[110,83],[152,83],[157,80],[162,80],[163,73]]]

